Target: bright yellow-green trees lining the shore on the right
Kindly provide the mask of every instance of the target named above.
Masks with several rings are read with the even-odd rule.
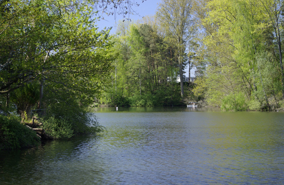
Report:
[[[196,1],[196,88],[225,110],[283,107],[283,0]]]

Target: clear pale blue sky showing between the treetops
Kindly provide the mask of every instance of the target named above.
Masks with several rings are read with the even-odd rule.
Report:
[[[156,10],[158,8],[158,4],[161,3],[162,0],[135,0],[140,5],[133,7],[134,11],[138,15],[129,15],[132,21],[142,19],[143,16],[146,15],[155,15]],[[103,29],[104,27],[113,27],[111,33],[116,31],[116,23],[118,24],[119,20],[123,19],[122,16],[104,16],[105,20],[100,20],[97,22],[99,29]]]

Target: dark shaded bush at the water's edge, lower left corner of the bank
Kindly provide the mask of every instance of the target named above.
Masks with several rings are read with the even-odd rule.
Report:
[[[17,116],[0,115],[0,150],[29,148],[39,143],[36,133]]]

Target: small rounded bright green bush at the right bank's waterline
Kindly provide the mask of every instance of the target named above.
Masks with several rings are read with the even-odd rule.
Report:
[[[247,110],[246,99],[243,93],[231,93],[222,99],[221,109],[229,111]]]

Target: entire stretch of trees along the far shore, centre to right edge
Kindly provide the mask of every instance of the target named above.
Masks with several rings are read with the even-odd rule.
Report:
[[[282,0],[163,0],[155,16],[119,25],[112,81],[102,102],[283,107],[283,5]],[[194,83],[182,81],[185,73]]]

